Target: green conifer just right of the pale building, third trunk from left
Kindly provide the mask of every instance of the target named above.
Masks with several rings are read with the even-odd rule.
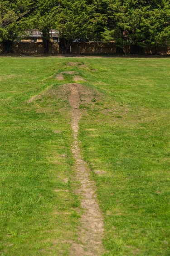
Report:
[[[73,40],[87,38],[91,29],[89,22],[91,5],[86,0],[60,0],[53,10],[55,29],[59,32],[63,54],[69,52]]]

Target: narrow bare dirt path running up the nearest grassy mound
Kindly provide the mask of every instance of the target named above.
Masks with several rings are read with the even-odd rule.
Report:
[[[99,256],[102,255],[102,234],[103,221],[99,206],[95,199],[95,184],[89,178],[89,170],[87,164],[83,161],[78,147],[78,123],[80,120],[79,107],[79,92],[82,90],[81,84],[68,84],[71,94],[68,97],[69,103],[72,107],[72,128],[74,136],[74,144],[72,152],[76,159],[76,178],[81,184],[80,189],[76,193],[82,197],[81,206],[83,208],[83,215],[81,216],[81,227],[78,231],[78,238],[81,244],[73,243],[71,248],[71,255],[73,256]]]

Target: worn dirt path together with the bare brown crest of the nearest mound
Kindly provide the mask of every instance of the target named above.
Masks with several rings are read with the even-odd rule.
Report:
[[[75,191],[81,198],[81,207],[83,209],[83,214],[80,218],[80,227],[78,229],[78,243],[73,241],[63,241],[71,244],[70,256],[102,256],[104,249],[102,246],[103,237],[103,219],[100,212],[99,206],[97,204],[97,199],[95,195],[95,183],[90,179],[90,170],[85,161],[83,161],[79,143],[78,143],[78,130],[79,121],[81,114],[86,114],[85,109],[79,110],[79,104],[89,105],[92,103],[92,98],[100,101],[102,100],[102,95],[95,91],[94,89],[83,86],[78,83],[65,84],[59,88],[49,87],[47,90],[41,92],[39,95],[31,97],[28,103],[36,102],[37,100],[43,99],[43,95],[48,95],[50,98],[62,98],[66,100],[68,97],[69,104],[71,106],[72,113],[72,128],[73,128],[73,147],[72,152],[75,161],[75,172],[76,180],[81,184],[80,188]],[[42,108],[38,108],[37,111],[41,113],[44,111]],[[45,108],[47,112],[47,108]],[[49,111],[51,111],[49,109]],[[60,110],[64,115],[65,109]],[[57,130],[53,131],[58,133]],[[66,157],[65,154],[61,155]],[[64,180],[68,182],[68,179]],[[56,191],[57,192],[57,191]]]

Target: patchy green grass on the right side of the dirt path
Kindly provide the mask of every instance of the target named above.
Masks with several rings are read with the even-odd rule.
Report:
[[[105,255],[169,255],[170,60],[88,62],[102,97],[83,102],[79,138],[104,215]]]

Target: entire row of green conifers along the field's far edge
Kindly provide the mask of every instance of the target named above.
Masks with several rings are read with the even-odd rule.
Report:
[[[42,32],[44,52],[49,51],[50,30],[59,32],[67,53],[72,41],[115,41],[117,52],[126,45],[134,53],[143,47],[170,43],[170,0],[0,0],[0,41],[5,52],[27,31]]]

